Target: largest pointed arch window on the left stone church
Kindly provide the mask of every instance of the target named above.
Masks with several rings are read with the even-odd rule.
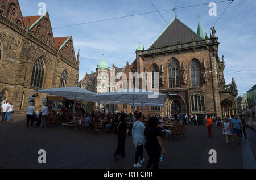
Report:
[[[44,79],[44,61],[39,58],[33,67],[30,85],[36,88],[42,88]]]

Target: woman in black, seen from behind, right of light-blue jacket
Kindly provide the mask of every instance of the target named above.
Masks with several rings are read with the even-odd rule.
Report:
[[[161,131],[158,127],[158,122],[155,117],[148,119],[148,127],[144,133],[146,136],[145,148],[150,159],[147,162],[147,169],[153,165],[153,169],[158,169],[160,154],[164,154],[163,141]]]

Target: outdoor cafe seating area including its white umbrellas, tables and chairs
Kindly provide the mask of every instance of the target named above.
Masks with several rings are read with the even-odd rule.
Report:
[[[145,91],[142,89],[123,89],[122,91],[114,91],[102,94],[96,94],[86,89],[79,87],[55,88],[34,93],[47,93],[48,95],[55,95],[74,100],[83,100],[88,102],[98,102],[97,104],[129,104],[132,105],[133,111],[131,114],[126,114],[125,122],[129,135],[131,135],[131,128],[133,127],[134,120],[136,119],[135,106],[163,106],[166,95]],[[154,96],[153,96],[154,95]],[[151,97],[150,97],[151,96]],[[75,105],[73,110],[68,110],[65,114],[63,112],[51,112],[47,115],[47,126],[69,126],[75,130],[88,131],[90,129],[93,133],[100,132],[105,134],[115,130],[118,122],[117,112],[108,113],[100,111],[100,108],[94,110],[93,113],[76,112]],[[107,118],[107,115],[109,117]],[[90,121],[86,121],[86,117],[90,117]],[[159,119],[158,127],[162,130],[162,136],[172,139],[185,139],[186,127],[180,122],[162,118],[156,114]],[[145,117],[143,114],[143,123],[147,126],[147,121],[150,117]],[[38,118],[38,125],[40,125],[40,118]]]

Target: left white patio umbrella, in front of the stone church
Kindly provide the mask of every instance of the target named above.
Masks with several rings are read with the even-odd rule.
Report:
[[[82,89],[80,87],[64,87],[64,88],[53,88],[53,89],[44,89],[39,91],[31,91],[35,93],[47,93],[49,95],[61,96],[65,98],[73,98],[74,102],[74,111],[76,106],[77,97],[83,98],[85,101],[94,102],[92,100],[92,95],[96,95],[96,93],[88,91],[86,89]]]

